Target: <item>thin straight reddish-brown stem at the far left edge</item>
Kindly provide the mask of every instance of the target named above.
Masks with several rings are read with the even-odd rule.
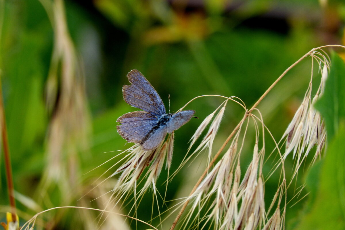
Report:
[[[16,218],[16,201],[14,199],[14,187],[13,187],[13,178],[12,178],[11,157],[10,157],[10,149],[8,146],[6,118],[5,118],[5,109],[3,106],[3,99],[2,99],[1,81],[0,81],[0,125],[1,125],[3,156],[4,156],[5,168],[6,168],[8,196],[9,196],[9,200],[10,200],[12,221],[15,222],[17,220],[17,218]]]

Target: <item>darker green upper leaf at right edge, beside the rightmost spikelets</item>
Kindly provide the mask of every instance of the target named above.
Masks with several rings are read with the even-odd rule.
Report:
[[[332,66],[326,80],[325,92],[315,104],[326,123],[328,140],[332,140],[339,122],[345,119],[345,65],[336,54],[332,54]]]

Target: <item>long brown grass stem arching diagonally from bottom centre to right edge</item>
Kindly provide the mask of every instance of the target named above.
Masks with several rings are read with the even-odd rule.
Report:
[[[211,162],[209,163],[208,167],[205,169],[204,173],[201,175],[201,177],[199,178],[198,182],[195,184],[193,190],[190,192],[189,196],[191,196],[195,190],[198,188],[199,184],[201,183],[201,181],[204,180],[207,172],[209,171],[209,169],[213,166],[213,163],[216,161],[216,159],[219,157],[220,153],[224,150],[225,146],[228,144],[228,142],[230,141],[230,139],[234,136],[234,134],[237,132],[237,130],[240,128],[240,126],[243,124],[243,122],[247,119],[247,117],[249,117],[249,114],[258,106],[258,104],[264,99],[264,97],[266,97],[266,95],[269,93],[269,91],[272,90],[272,88],[285,76],[285,74],[292,69],[293,67],[295,67],[300,61],[302,61],[303,59],[305,59],[306,57],[308,57],[311,53],[313,53],[315,50],[318,49],[322,49],[322,48],[326,48],[326,47],[340,47],[340,48],[345,48],[345,46],[341,46],[341,45],[327,45],[327,46],[321,46],[321,47],[317,47],[312,49],[311,51],[307,52],[306,54],[304,54],[300,59],[298,59],[295,63],[293,63],[289,68],[287,68],[280,76],[279,78],[277,78],[272,85],[264,92],[264,94],[255,102],[255,104],[252,106],[252,108],[250,108],[246,113],[245,116],[242,118],[242,120],[237,124],[237,126],[235,127],[235,129],[233,130],[233,132],[231,132],[231,134],[229,135],[229,137],[226,139],[226,141],[223,143],[223,145],[220,147],[220,149],[218,150],[217,154],[214,156],[214,158],[211,160]],[[171,224],[170,230],[174,230],[176,227],[176,224],[178,222],[178,220],[180,219],[180,217],[182,216],[183,212],[185,211],[187,205],[189,203],[189,200],[187,200],[181,210],[179,211],[179,213],[177,214],[174,222]]]

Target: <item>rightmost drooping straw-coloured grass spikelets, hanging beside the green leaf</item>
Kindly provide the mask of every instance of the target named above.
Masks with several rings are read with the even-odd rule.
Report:
[[[328,69],[330,66],[329,57],[321,52],[313,52],[312,56],[312,74],[305,97],[297,109],[292,121],[283,134],[282,139],[286,138],[284,159],[292,152],[293,158],[296,158],[294,176],[297,174],[299,167],[308,156],[309,152],[316,146],[316,152],[313,161],[319,157],[326,139],[324,122],[321,114],[316,111],[313,104],[322,95],[325,80],[327,79]],[[313,61],[316,60],[318,69],[321,71],[321,81],[319,87],[312,97],[312,80],[313,80]]]

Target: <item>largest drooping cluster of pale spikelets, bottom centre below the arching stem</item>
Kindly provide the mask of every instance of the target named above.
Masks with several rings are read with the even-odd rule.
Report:
[[[264,148],[259,151],[256,142],[253,160],[241,182],[239,157],[242,148],[237,148],[240,133],[239,129],[223,157],[188,198],[193,201],[188,218],[184,221],[184,229],[187,228],[188,221],[193,220],[193,213],[201,212],[208,203],[211,205],[207,209],[207,218],[195,221],[203,221],[204,225],[211,221],[217,229],[255,229],[262,225],[266,214],[264,181],[259,165],[263,163]]]

